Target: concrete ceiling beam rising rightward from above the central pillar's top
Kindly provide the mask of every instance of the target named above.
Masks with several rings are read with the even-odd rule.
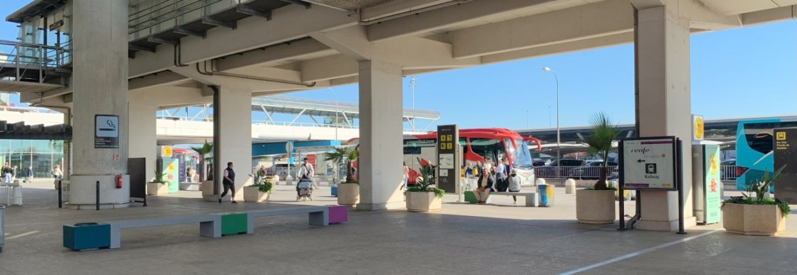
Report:
[[[555,0],[475,0],[461,5],[447,6],[409,17],[384,21],[368,26],[371,42],[406,37],[443,29],[457,24],[478,21],[481,17],[509,14]]]

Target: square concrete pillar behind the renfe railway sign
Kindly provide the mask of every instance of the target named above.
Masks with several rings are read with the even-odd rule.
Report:
[[[684,139],[685,227],[696,224],[692,213],[691,103],[689,100],[689,17],[677,1],[638,10],[636,62],[638,123],[642,137]],[[673,231],[678,227],[677,192],[642,192],[641,230]]]

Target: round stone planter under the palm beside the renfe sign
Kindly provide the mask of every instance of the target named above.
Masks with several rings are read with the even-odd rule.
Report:
[[[575,219],[579,223],[614,223],[614,190],[576,190]]]

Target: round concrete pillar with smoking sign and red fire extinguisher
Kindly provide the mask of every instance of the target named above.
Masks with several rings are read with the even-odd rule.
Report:
[[[73,175],[69,203],[129,203],[128,0],[72,1]],[[95,148],[95,116],[118,115],[118,148]],[[115,176],[123,174],[124,188]],[[128,204],[116,204],[127,207]]]

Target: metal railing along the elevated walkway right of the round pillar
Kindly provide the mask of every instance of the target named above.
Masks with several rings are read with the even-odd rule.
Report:
[[[139,9],[138,6],[147,3],[141,2],[131,6],[130,10],[137,11],[128,15],[128,40],[147,37],[249,1],[251,0],[150,0],[149,6]]]

